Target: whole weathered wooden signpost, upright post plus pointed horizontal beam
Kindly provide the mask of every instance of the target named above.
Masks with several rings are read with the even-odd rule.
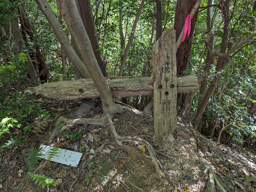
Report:
[[[106,77],[106,82],[114,97],[154,96],[155,135],[158,141],[164,141],[176,127],[177,93],[196,92],[198,80],[194,75],[176,76],[176,32],[174,29],[167,29],[153,45],[152,61],[153,78]],[[63,100],[100,97],[91,79],[50,82],[29,87],[26,92]]]

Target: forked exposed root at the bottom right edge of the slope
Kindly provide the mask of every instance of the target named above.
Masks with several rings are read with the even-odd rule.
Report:
[[[202,157],[200,157],[199,160],[204,165],[204,167],[207,168],[209,171],[209,182],[207,184],[205,192],[214,192],[215,191],[214,190],[214,180],[215,180],[216,185],[218,186],[218,190],[220,190],[221,192],[226,192],[226,190],[222,187],[222,185],[216,178],[212,166]]]

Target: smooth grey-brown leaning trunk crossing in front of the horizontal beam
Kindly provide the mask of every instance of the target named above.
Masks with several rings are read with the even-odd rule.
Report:
[[[70,29],[70,33],[73,35],[74,40],[78,45],[78,49],[82,55],[83,61],[85,62],[86,68],[88,69],[88,72],[99,92],[102,100],[103,111],[110,113],[116,112],[116,106],[111,90],[100,70],[90,39],[76,8],[76,3],[74,0],[57,0],[57,6]]]

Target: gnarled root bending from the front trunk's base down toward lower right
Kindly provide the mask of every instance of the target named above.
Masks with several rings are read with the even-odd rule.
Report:
[[[108,118],[108,122],[109,122],[109,125],[111,127],[111,131],[114,134],[114,137],[115,137],[116,142],[118,143],[118,145],[122,145],[122,142],[124,142],[124,141],[137,141],[137,142],[143,143],[148,148],[148,151],[149,151],[150,156],[151,156],[151,160],[152,160],[152,162],[154,163],[154,165],[156,167],[156,172],[160,176],[162,176],[163,173],[162,173],[162,171],[159,168],[158,161],[156,159],[156,154],[154,152],[154,149],[153,149],[152,145],[150,145],[148,143],[148,141],[145,141],[144,139],[141,139],[139,137],[128,137],[128,136],[120,136],[120,135],[118,135],[118,133],[116,132],[114,123],[112,121],[112,116],[110,114],[106,114],[106,116]]]

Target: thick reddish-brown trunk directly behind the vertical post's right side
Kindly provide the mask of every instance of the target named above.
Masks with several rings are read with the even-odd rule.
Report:
[[[175,19],[174,19],[174,29],[176,30],[176,39],[178,40],[182,28],[184,27],[186,17],[191,13],[193,7],[195,6],[198,0],[178,0],[176,5]],[[196,26],[196,20],[198,16],[199,6],[191,19],[191,32],[185,40],[180,43],[180,46],[176,53],[177,61],[177,75],[184,75],[183,71],[188,67],[188,60],[190,57],[192,40],[194,36],[194,30]],[[190,120],[190,111],[189,111],[189,98],[191,94],[178,94],[178,103],[177,108],[180,109],[180,115],[182,120]]]

